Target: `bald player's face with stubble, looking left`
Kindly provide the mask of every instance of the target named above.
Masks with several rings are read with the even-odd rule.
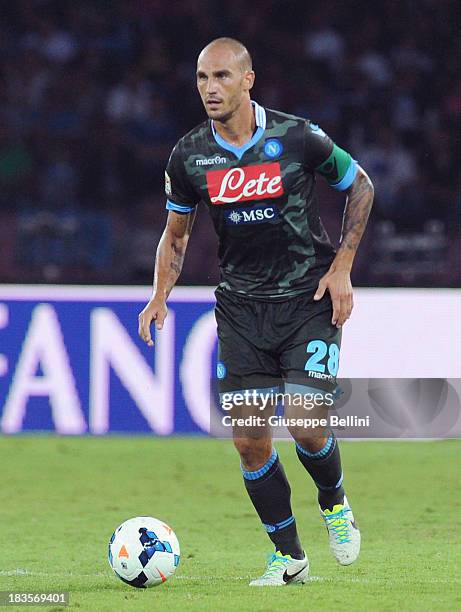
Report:
[[[197,62],[197,87],[207,115],[216,121],[229,120],[253,86],[254,73],[243,71],[234,53],[215,47]]]

